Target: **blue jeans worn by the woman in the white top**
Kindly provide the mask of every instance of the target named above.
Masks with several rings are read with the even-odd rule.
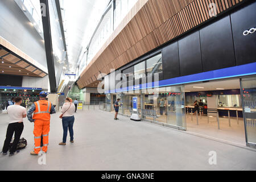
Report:
[[[73,141],[73,139],[74,139],[74,131],[73,131],[74,122],[75,122],[74,116],[62,118],[63,143],[67,142],[68,130],[69,130],[70,140]]]

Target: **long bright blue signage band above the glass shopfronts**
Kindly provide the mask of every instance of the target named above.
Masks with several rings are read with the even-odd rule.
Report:
[[[141,90],[141,89],[149,89],[149,88],[158,88],[162,86],[188,84],[188,83],[199,82],[199,81],[209,81],[209,80],[218,80],[223,78],[249,76],[249,75],[256,75],[256,62],[245,64],[245,65],[239,65],[236,67],[229,67],[229,68],[217,69],[209,72],[197,73],[195,75],[170,78],[167,80],[159,81],[159,83],[152,82],[152,83],[147,83],[142,85],[129,86],[127,88],[110,90],[109,92],[105,92],[105,94],[127,92],[132,90]]]

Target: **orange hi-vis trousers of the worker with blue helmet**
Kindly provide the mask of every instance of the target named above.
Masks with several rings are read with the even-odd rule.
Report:
[[[49,145],[49,121],[36,120],[34,124],[34,135],[35,135],[35,153],[39,154],[41,150],[41,136],[43,135],[43,147],[42,150],[47,152]]]

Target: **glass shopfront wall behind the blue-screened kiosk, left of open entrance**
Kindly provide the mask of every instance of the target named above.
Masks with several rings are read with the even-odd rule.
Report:
[[[133,97],[138,97],[138,113],[143,119],[156,121],[185,129],[184,86],[143,89],[117,94],[122,106],[119,111],[125,115],[133,114]],[[107,94],[106,102],[110,104]]]

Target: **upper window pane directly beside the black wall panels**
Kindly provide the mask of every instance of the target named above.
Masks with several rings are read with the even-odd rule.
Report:
[[[162,53],[147,60],[147,73],[162,73]]]

